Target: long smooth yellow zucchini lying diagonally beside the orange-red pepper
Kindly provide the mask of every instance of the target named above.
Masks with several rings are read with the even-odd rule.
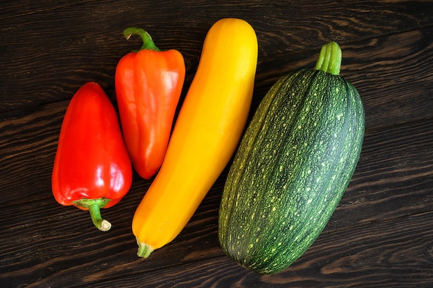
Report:
[[[208,31],[164,162],[133,216],[138,256],[178,236],[228,164],[250,110],[257,52],[242,19],[221,19]]]

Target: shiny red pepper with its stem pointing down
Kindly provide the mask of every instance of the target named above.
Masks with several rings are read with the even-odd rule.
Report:
[[[95,82],[71,99],[60,129],[51,184],[55,200],[89,210],[93,224],[108,231],[101,208],[117,204],[129,191],[132,166],[110,99]]]

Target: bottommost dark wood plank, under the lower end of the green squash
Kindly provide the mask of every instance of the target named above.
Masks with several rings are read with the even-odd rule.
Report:
[[[272,276],[243,269],[221,251],[207,260],[168,259],[169,273],[167,266],[146,269],[154,259],[122,261],[125,251],[112,244],[94,250],[89,239],[86,258],[71,247],[62,262],[47,257],[43,265],[33,263],[33,272],[1,273],[0,280],[10,287],[430,287],[432,218],[430,211],[322,234],[291,267]]]

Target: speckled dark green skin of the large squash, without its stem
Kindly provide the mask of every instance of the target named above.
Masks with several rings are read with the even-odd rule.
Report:
[[[285,269],[331,218],[358,163],[360,96],[343,77],[298,70],[270,88],[225,183],[219,241],[258,273]]]

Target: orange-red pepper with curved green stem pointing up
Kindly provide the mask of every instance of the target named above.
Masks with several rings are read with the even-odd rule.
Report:
[[[122,57],[115,87],[120,122],[131,162],[138,175],[149,179],[163,163],[176,106],[185,80],[185,61],[178,50],[159,50],[140,28],[127,28],[143,45]]]

